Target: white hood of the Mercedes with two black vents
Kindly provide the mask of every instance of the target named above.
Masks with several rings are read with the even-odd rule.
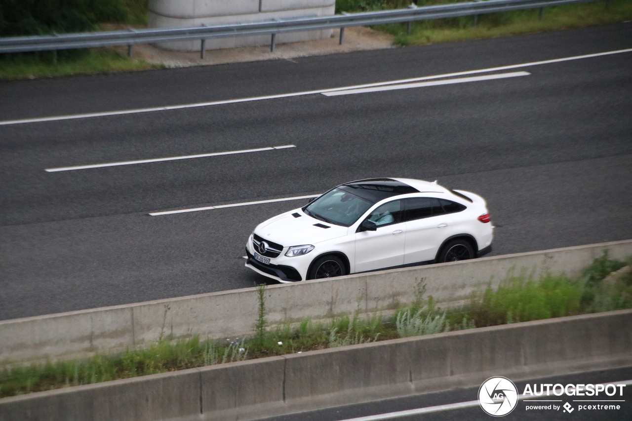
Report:
[[[293,217],[293,213],[300,214],[300,217]],[[314,224],[323,224],[330,228],[320,228]],[[295,245],[320,243],[332,238],[347,235],[349,228],[325,223],[315,219],[303,212],[301,209],[294,209],[284,214],[272,217],[255,228],[255,234],[264,240],[274,241],[290,247]]]

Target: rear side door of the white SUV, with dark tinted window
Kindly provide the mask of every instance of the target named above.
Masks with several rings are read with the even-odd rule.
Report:
[[[452,218],[444,212],[439,199],[404,199],[406,241],[404,264],[434,260],[441,243],[449,236]]]

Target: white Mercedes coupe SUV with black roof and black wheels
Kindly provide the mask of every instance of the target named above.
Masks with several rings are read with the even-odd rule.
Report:
[[[286,283],[473,259],[492,250],[493,229],[474,193],[406,178],[351,181],[258,224],[246,267]]]

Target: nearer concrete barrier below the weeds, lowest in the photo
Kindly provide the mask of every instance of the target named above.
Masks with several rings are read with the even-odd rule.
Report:
[[[0,419],[247,421],[478,386],[492,375],[519,381],[629,365],[632,310],[619,310],[15,396],[0,399]]]

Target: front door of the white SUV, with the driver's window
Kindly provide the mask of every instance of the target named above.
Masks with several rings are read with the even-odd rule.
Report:
[[[403,264],[406,223],[402,210],[402,201],[392,200],[364,218],[375,223],[377,229],[355,233],[355,272]]]

